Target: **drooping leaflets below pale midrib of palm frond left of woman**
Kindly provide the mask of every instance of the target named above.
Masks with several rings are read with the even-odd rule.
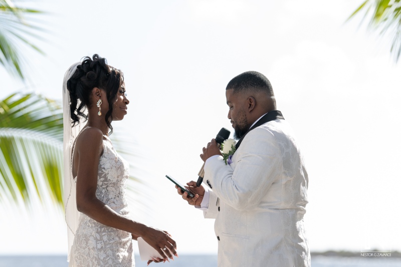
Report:
[[[0,183],[16,202],[50,192],[54,202],[62,204],[62,157],[63,142],[51,135],[0,128]]]

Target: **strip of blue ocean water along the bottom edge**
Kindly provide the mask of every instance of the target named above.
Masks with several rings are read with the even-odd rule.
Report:
[[[68,267],[67,256],[5,256],[0,255],[0,267]],[[136,267],[146,266],[135,255]],[[312,267],[400,267],[401,258],[391,257],[333,257],[314,256]],[[213,267],[217,266],[217,255],[180,255],[178,259],[166,263],[151,263],[149,266]]]

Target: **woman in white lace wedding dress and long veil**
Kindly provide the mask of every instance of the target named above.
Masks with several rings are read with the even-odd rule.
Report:
[[[142,237],[173,258],[175,241],[129,218],[125,198],[129,164],[108,137],[129,101],[123,74],[94,55],[73,64],[63,84],[64,177],[69,266],[135,266],[132,239]],[[86,121],[86,124],[83,122]],[[168,248],[168,249],[166,249]],[[171,253],[170,253],[171,251]]]

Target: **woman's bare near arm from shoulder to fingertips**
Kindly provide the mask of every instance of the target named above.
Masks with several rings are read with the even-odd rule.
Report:
[[[107,226],[141,236],[156,250],[166,246],[174,255],[177,255],[175,241],[168,233],[120,215],[96,198],[99,160],[103,150],[103,133],[99,129],[91,127],[82,132],[76,142],[78,211]],[[74,165],[77,166],[77,164]],[[172,258],[168,249],[164,252],[169,258]],[[160,254],[166,258],[164,253]]]

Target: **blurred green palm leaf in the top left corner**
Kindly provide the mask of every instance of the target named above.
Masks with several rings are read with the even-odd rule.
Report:
[[[42,12],[16,7],[11,0],[0,0],[0,64],[9,73],[21,79],[25,78],[22,69],[25,60],[22,57],[21,49],[23,47],[21,45],[44,54],[27,39],[27,36],[41,39],[37,33],[43,29],[30,23],[27,19],[27,15],[40,13]]]

